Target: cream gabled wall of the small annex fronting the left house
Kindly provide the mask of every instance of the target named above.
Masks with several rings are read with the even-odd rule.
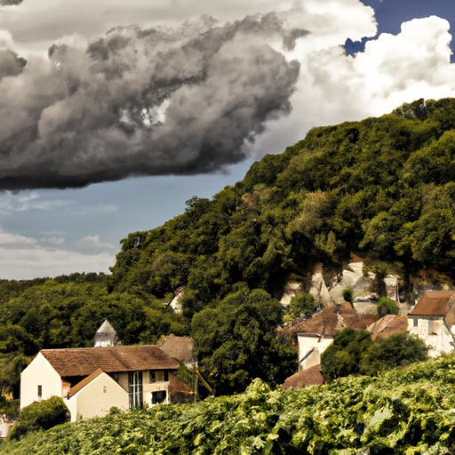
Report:
[[[65,400],[71,412],[71,421],[78,416],[82,419],[104,417],[112,406],[122,411],[128,410],[128,393],[108,374],[101,373],[89,384],[79,390],[69,400]]]

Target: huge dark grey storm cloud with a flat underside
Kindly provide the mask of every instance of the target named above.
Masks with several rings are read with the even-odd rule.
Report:
[[[290,112],[299,76],[267,39],[291,49],[305,33],[270,13],[220,27],[204,17],[178,29],[114,28],[86,52],[52,46],[51,65],[29,61],[0,82],[0,189],[238,163],[267,120]]]

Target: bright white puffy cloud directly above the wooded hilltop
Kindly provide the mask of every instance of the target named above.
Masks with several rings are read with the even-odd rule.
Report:
[[[435,16],[411,20],[397,36],[382,34],[367,42],[365,52],[355,58],[330,36],[316,36],[311,45],[301,40],[294,51],[301,69],[291,98],[293,112],[270,122],[253,152],[262,156],[282,151],[314,126],[381,116],[420,98],[455,96],[449,28],[447,20]]]

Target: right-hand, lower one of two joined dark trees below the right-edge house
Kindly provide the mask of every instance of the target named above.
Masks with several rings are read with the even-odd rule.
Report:
[[[428,347],[407,331],[395,333],[369,347],[360,362],[360,371],[375,375],[379,371],[427,360]]]

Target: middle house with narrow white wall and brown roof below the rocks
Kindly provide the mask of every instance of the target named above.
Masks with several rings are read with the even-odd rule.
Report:
[[[337,333],[347,327],[355,331],[365,330],[378,319],[378,315],[358,315],[348,303],[342,303],[323,308],[313,317],[280,331],[297,336],[299,370],[306,370],[321,363],[321,354],[331,345]]]

